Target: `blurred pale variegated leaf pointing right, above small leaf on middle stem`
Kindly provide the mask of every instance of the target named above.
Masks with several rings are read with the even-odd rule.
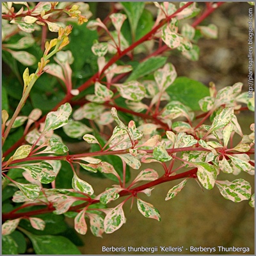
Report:
[[[63,131],[70,138],[81,138],[84,134],[93,130],[79,121],[70,120],[68,124],[63,126]]]

